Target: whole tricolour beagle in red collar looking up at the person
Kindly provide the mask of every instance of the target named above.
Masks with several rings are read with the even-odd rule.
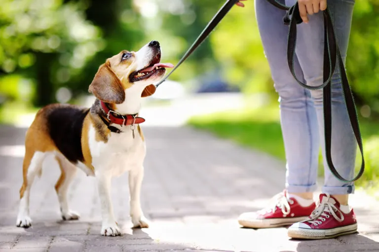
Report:
[[[28,228],[30,189],[41,175],[43,159],[53,154],[61,175],[55,184],[63,220],[78,219],[67,202],[67,189],[80,168],[96,178],[100,196],[104,236],[121,235],[111,202],[111,179],[129,172],[130,216],[133,227],[149,227],[140,193],[146,155],[144,135],[138,116],[141,99],[155,92],[172,64],[160,63],[158,41],[151,41],[137,52],[121,51],[106,60],[95,74],[88,91],[96,99],[91,108],[52,104],[41,108],[25,138],[23,184],[20,189],[18,227]]]

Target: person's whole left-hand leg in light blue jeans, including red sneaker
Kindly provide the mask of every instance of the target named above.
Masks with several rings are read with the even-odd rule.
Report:
[[[317,187],[318,125],[309,90],[298,85],[288,68],[285,12],[266,0],[256,0],[255,8],[265,55],[280,97],[287,192],[279,195],[270,213],[244,213],[239,217],[239,223],[247,227],[274,227],[304,219],[315,207],[312,196]],[[295,66],[297,75],[302,76],[297,59]]]

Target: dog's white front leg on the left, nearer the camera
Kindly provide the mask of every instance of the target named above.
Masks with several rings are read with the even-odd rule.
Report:
[[[97,187],[100,196],[101,215],[103,223],[101,234],[105,236],[121,235],[120,229],[114,219],[113,207],[111,201],[111,176],[104,173],[97,173]]]

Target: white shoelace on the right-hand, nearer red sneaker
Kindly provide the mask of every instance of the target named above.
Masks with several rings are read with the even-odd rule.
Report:
[[[319,224],[322,224],[322,221],[325,221],[326,218],[330,218],[330,215],[332,215],[338,221],[343,221],[343,214],[333,203],[329,202],[330,195],[328,193],[326,195],[327,198],[325,199],[324,197],[322,199],[323,202],[319,203],[317,208],[313,210],[312,214],[310,215],[310,219],[304,220],[302,222],[309,222],[317,226]],[[341,217],[337,216],[336,213],[339,213]]]

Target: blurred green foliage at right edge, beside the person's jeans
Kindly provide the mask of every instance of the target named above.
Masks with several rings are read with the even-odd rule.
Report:
[[[360,104],[379,113],[379,0],[355,2],[346,58],[350,85]]]

